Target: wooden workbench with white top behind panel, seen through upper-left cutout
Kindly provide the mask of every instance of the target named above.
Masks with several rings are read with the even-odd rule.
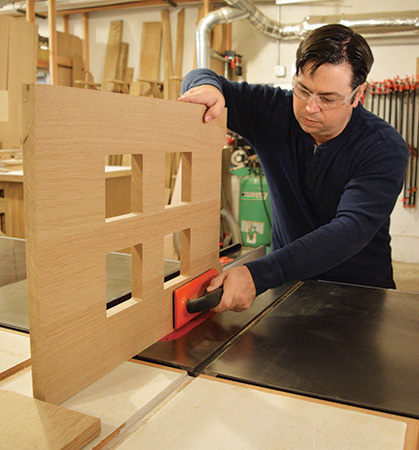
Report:
[[[104,166],[106,217],[126,214],[131,207],[131,167]],[[0,235],[25,238],[23,171],[0,172]],[[3,231],[2,231],[3,230]]]

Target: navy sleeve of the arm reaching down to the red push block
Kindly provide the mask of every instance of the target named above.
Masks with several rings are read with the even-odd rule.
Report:
[[[346,183],[335,217],[246,264],[258,294],[287,282],[318,277],[351,258],[355,261],[376,238],[401,191],[408,152],[402,138],[392,131],[370,140],[374,143],[366,148],[356,173]],[[361,265],[365,256],[356,261]]]

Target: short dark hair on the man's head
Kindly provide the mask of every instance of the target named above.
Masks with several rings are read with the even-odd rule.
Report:
[[[310,75],[323,64],[347,64],[352,69],[352,89],[367,79],[374,62],[367,41],[344,25],[325,25],[311,31],[297,49],[296,71],[307,65]]]

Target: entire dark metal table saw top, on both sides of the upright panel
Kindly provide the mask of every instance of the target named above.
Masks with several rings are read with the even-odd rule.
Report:
[[[25,301],[24,241],[0,238],[0,247],[1,261],[8,261],[14,277],[0,287],[0,323],[27,330],[24,314],[20,323],[7,323],[10,302],[19,302],[19,295]],[[261,256],[258,252],[241,250],[233,261],[240,264],[242,258]],[[117,254],[114,263],[110,278],[120,271],[114,279],[124,279],[126,255]],[[168,276],[176,270],[170,263]],[[116,297],[108,301],[126,295],[115,289]],[[260,295],[248,311],[212,315],[177,339],[156,342],[135,359],[192,377],[208,375],[419,419],[418,317],[419,294],[319,281],[291,283]]]

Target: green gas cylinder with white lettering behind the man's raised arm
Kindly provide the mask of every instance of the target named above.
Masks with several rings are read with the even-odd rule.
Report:
[[[239,224],[243,245],[271,245],[272,214],[268,184],[261,168],[252,168],[240,181]]]

